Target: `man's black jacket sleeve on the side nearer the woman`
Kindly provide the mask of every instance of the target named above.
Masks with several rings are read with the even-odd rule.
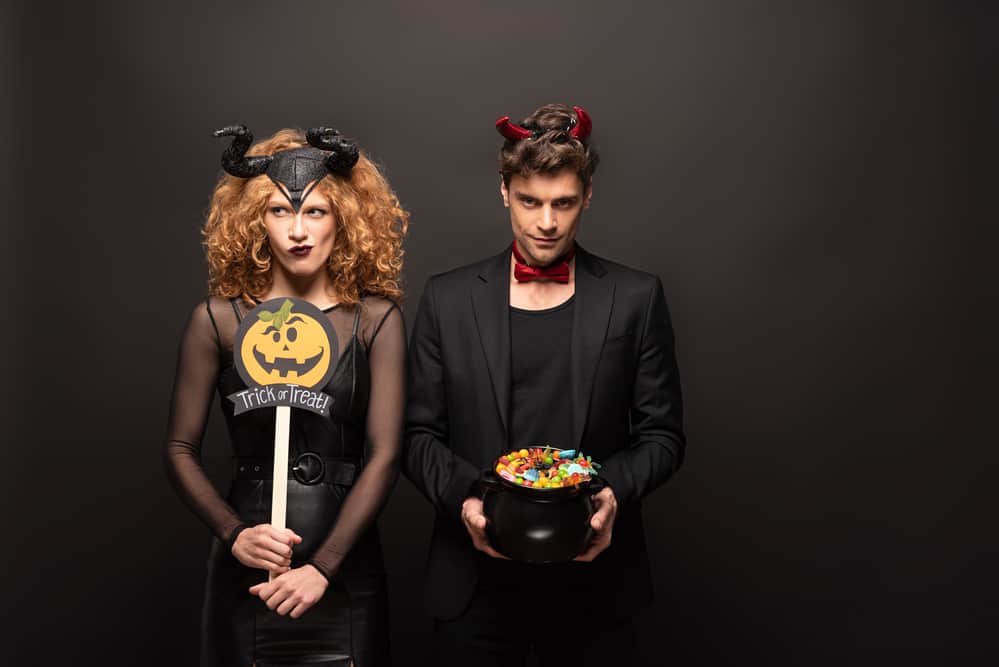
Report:
[[[403,472],[439,514],[460,521],[478,470],[448,443],[447,387],[434,280],[427,282],[409,346]]]

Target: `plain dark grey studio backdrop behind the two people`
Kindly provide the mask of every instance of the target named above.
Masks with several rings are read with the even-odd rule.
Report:
[[[647,502],[645,661],[994,659],[987,4],[4,5],[11,664],[194,663],[209,538],[160,450],[211,130],[330,124],[384,164],[411,321],[508,242],[492,123],[550,101],[603,152],[582,243],[674,316],[690,446]],[[207,441],[221,480],[217,415]],[[430,519],[401,481],[381,520],[402,665],[432,655]]]

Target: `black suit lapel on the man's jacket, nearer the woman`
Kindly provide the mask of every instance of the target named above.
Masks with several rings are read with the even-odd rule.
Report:
[[[510,250],[489,260],[472,285],[472,310],[500,421],[510,440]]]

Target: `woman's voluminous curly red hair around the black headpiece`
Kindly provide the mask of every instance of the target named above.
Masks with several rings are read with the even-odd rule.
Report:
[[[301,130],[283,129],[254,144],[247,155],[271,155],[307,145]],[[202,230],[211,294],[252,304],[270,289],[264,213],[276,187],[265,176],[247,179],[229,174],[215,186]],[[349,178],[327,175],[316,191],[329,199],[336,216],[337,234],[326,270],[340,303],[353,305],[367,294],[401,299],[402,240],[409,213],[378,167],[361,153]]]

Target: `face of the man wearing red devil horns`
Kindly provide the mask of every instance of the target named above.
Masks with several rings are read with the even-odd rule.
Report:
[[[593,186],[583,187],[574,171],[512,176],[507,187],[500,179],[503,205],[510,209],[513,238],[531,266],[547,266],[576,240],[583,209],[590,205]]]

